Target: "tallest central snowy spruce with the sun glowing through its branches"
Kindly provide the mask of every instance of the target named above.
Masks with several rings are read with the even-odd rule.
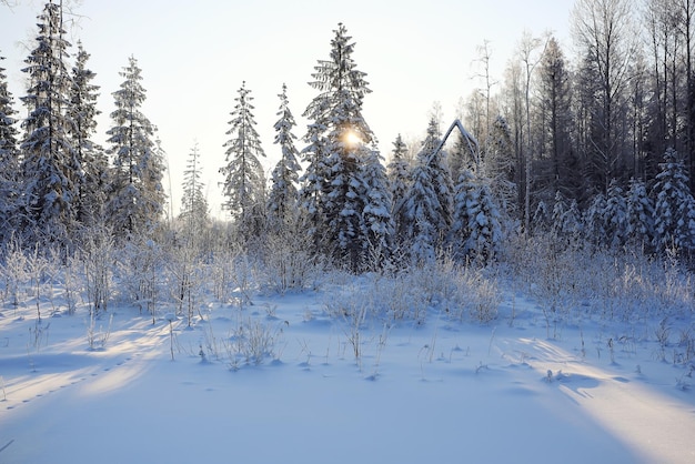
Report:
[[[357,272],[370,248],[362,233],[369,199],[359,176],[364,157],[373,151],[365,149],[374,134],[362,117],[363,98],[371,91],[366,74],[352,59],[354,43],[345,27],[340,23],[334,32],[330,59],[319,61],[310,83],[320,94],[304,111],[310,124],[302,154],[310,167],[303,176],[302,204],[309,208],[308,229],[318,251]]]

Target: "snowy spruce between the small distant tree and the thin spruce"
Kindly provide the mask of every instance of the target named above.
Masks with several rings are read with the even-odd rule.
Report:
[[[224,175],[224,206],[235,220],[244,240],[258,235],[265,219],[265,179],[260,158],[265,157],[253,115],[253,97],[244,81],[239,89],[236,104],[231,112],[226,147],[226,165],[220,169]]]

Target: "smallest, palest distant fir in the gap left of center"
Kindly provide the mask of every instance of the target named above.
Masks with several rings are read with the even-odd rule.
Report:
[[[179,219],[190,239],[201,235],[210,222],[208,200],[203,193],[204,183],[201,181],[200,150],[198,142],[189,152],[189,159],[183,171],[183,196]]]

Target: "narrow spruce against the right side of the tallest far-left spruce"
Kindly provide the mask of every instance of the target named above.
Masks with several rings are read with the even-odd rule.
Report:
[[[107,201],[109,160],[103,149],[92,139],[97,132],[97,109],[99,85],[92,83],[94,72],[87,68],[90,54],[78,42],[78,54],[72,68],[70,107],[68,118],[71,125],[69,135],[74,155],[82,168],[77,201],[78,221],[83,226],[92,226],[104,221],[103,205]]]

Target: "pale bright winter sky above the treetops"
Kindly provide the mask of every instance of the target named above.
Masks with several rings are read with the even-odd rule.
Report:
[[[63,0],[74,4],[73,1]],[[0,4],[0,56],[21,115],[26,109],[23,60],[36,47],[37,14],[44,2],[9,0]],[[18,4],[16,4],[18,3]],[[218,170],[234,98],[242,81],[254,97],[256,130],[268,155],[266,174],[280,157],[273,124],[283,82],[302,138],[301,117],[316,95],[308,82],[318,60],[329,58],[331,39],[343,22],[355,42],[353,58],[367,73],[373,91],[363,115],[389,159],[399,133],[404,140],[424,135],[434,102],[444,125],[455,117],[459,100],[481,82],[476,49],[492,50],[493,77],[502,81],[523,32],[552,31],[570,52],[568,23],[574,0],[81,0],[70,40],[81,39],[91,53],[89,68],[101,97],[97,141],[103,143],[113,111],[112,92],[132,54],[142,69],[148,92],[144,114],[159,128],[168,154],[174,214],[188,155],[198,141],[211,213],[221,216]],[[74,50],[73,50],[74,51]],[[74,54],[74,53],[73,53]],[[445,129],[445,128],[443,128]],[[304,143],[299,140],[301,150]],[[168,188],[168,178],[164,179]]]

